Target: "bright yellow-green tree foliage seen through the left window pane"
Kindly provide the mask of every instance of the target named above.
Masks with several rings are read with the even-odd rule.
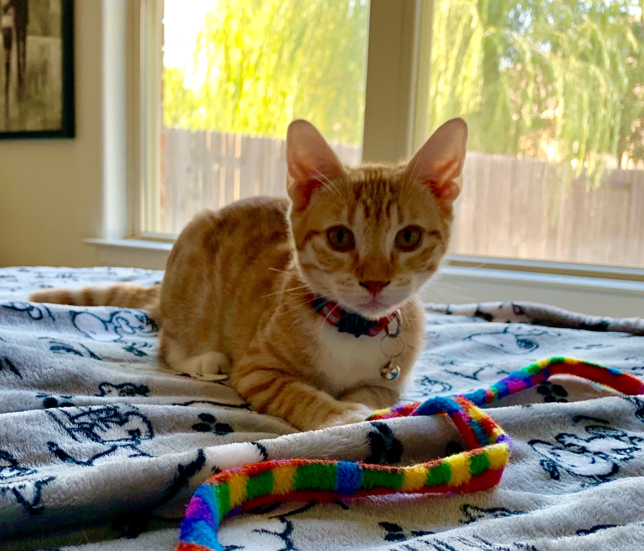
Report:
[[[361,143],[367,18],[365,0],[219,0],[194,50],[202,83],[164,69],[166,126],[285,137],[305,118]]]

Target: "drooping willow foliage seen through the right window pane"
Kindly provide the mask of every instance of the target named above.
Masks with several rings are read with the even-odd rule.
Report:
[[[634,0],[435,0],[428,130],[469,122],[469,148],[644,159],[644,33]]]

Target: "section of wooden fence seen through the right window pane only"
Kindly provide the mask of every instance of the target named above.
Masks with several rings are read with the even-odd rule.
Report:
[[[595,186],[565,171],[468,153],[451,251],[644,267],[644,172],[607,170]]]

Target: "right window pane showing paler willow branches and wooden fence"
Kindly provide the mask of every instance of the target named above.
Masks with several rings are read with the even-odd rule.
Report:
[[[451,252],[644,267],[633,0],[434,0],[428,135],[469,124]]]

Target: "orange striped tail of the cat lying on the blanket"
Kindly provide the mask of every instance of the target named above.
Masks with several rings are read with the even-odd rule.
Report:
[[[32,293],[29,300],[72,306],[118,306],[155,312],[158,310],[160,292],[160,283],[151,287],[117,283],[109,287],[43,289]]]

